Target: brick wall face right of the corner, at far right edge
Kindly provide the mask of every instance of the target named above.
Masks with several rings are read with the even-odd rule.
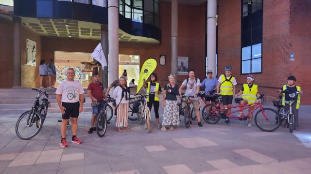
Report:
[[[297,78],[296,84],[301,86],[304,95],[302,104],[311,104],[311,0],[291,1],[291,27],[289,51],[295,53],[295,60],[289,61],[288,73]],[[286,56],[289,60],[289,54]]]

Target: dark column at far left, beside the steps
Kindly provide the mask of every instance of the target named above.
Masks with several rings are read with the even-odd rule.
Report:
[[[21,87],[21,18],[13,17],[13,88]]]

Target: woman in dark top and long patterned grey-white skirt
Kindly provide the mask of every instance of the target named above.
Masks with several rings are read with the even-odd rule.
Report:
[[[175,84],[175,75],[169,75],[169,83],[164,86],[163,93],[163,105],[164,114],[162,120],[162,131],[167,131],[166,126],[170,126],[170,130],[173,131],[173,125],[179,125],[179,113],[177,98],[178,86]]]

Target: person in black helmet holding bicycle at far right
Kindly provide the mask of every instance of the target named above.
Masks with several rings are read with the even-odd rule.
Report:
[[[290,75],[287,78],[287,85],[284,85],[281,90],[278,90],[278,92],[286,91],[282,93],[282,105],[284,108],[285,113],[290,109],[289,101],[294,101],[292,103],[292,112],[294,114],[294,130],[298,131],[298,109],[300,106],[300,95],[303,94],[303,91],[301,91],[301,87],[295,85],[296,77],[293,75]],[[296,92],[300,92],[300,94],[296,94]],[[284,122],[284,128],[288,128],[288,122]]]

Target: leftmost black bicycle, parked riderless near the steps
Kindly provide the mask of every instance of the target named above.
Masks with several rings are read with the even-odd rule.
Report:
[[[49,98],[49,94],[40,89],[32,88],[32,90],[38,91],[35,103],[30,111],[26,111],[19,116],[15,126],[16,135],[22,140],[29,140],[39,133],[47,116],[48,107],[50,106],[50,102],[47,99]],[[47,98],[43,98],[40,103],[40,98],[43,95]]]

